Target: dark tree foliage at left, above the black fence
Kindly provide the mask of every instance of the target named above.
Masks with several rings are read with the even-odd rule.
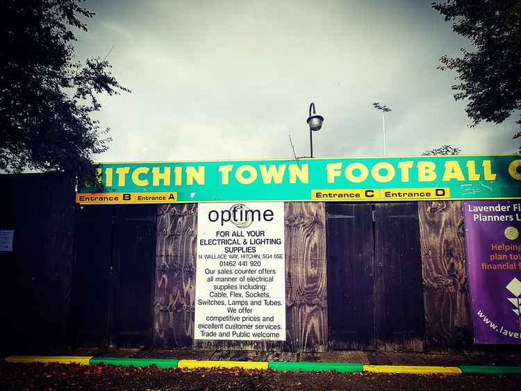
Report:
[[[93,112],[97,94],[129,91],[106,59],[74,58],[76,31],[94,13],[75,0],[1,0],[0,169],[63,171],[92,177],[92,156],[109,129]]]

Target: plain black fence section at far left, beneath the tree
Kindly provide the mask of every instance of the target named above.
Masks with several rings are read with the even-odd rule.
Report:
[[[63,343],[71,292],[74,181],[63,174],[0,175],[2,353]],[[5,349],[5,350],[4,350]]]

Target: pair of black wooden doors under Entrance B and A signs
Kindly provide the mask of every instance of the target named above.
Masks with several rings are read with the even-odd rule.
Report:
[[[86,205],[76,210],[68,323],[72,343],[149,344],[156,209]]]

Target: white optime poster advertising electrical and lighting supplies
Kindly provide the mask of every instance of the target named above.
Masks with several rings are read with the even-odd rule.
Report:
[[[286,340],[284,203],[199,203],[196,340]]]

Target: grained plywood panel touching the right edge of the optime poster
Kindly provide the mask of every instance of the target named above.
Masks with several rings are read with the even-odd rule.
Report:
[[[285,203],[286,349],[326,351],[327,272],[324,203]]]

